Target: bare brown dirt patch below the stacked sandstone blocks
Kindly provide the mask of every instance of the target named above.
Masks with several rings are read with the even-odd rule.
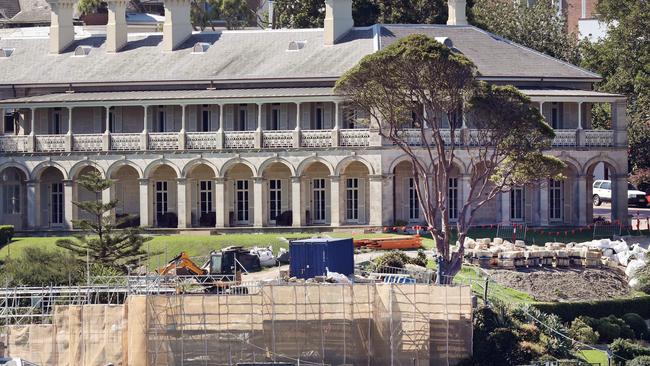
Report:
[[[538,301],[604,300],[629,295],[624,273],[612,269],[489,270],[497,283]]]

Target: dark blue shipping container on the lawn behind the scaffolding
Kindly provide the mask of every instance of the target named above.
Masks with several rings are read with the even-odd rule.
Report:
[[[354,274],[354,243],[352,239],[304,239],[289,243],[292,277],[313,278],[330,272],[346,276]]]

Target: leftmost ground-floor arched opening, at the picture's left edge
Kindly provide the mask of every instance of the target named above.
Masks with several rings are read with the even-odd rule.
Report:
[[[0,222],[13,225],[16,230],[27,226],[27,176],[14,167],[0,172]]]

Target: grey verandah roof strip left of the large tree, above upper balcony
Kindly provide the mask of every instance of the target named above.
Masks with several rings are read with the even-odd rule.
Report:
[[[46,108],[53,106],[98,105],[156,105],[169,104],[216,104],[224,103],[273,103],[341,100],[332,88],[265,88],[265,89],[204,89],[204,90],[150,90],[96,93],[57,93],[0,100],[0,107]]]

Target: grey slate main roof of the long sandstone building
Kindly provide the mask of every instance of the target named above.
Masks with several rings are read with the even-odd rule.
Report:
[[[0,84],[333,80],[377,46],[412,33],[450,38],[484,77],[598,78],[473,26],[383,25],[355,28],[334,46],[324,45],[322,29],[196,33],[174,52],[163,51],[160,33],[131,34],[128,45],[116,54],[105,52],[104,35],[79,38],[60,55],[49,54],[46,37],[6,37],[0,47],[15,50],[0,59]],[[305,41],[306,46],[287,51],[291,41]],[[196,42],[211,46],[204,54],[193,54]],[[73,57],[79,45],[93,48],[87,56]]]

